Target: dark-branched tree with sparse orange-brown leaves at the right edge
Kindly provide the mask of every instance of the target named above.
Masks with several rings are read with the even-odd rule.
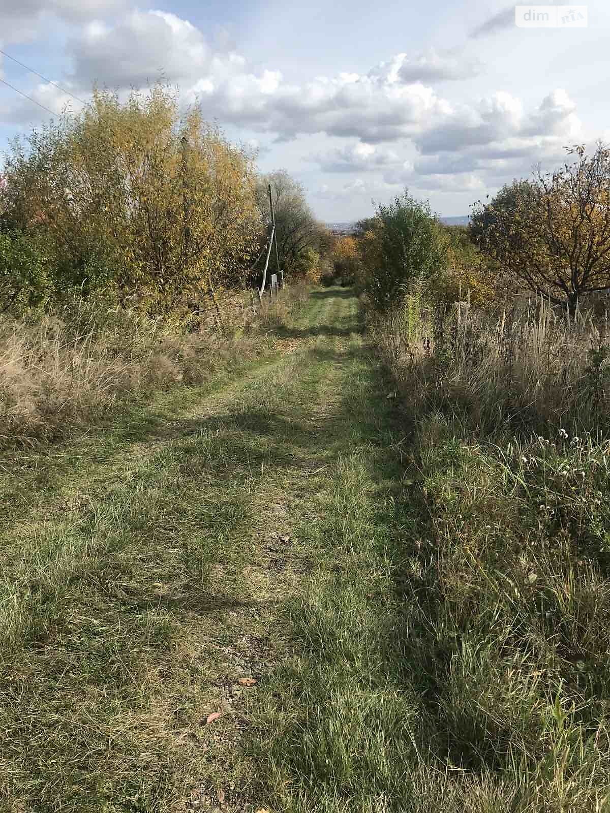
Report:
[[[572,163],[552,173],[538,167],[533,180],[480,203],[473,237],[508,284],[574,311],[587,293],[610,290],[610,150],[569,154]]]

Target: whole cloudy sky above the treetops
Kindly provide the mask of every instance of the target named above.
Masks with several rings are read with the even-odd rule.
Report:
[[[517,28],[503,0],[0,0],[0,49],[85,99],[178,85],[259,166],[298,177],[322,220],[405,186],[442,215],[574,143],[610,140],[610,3],[588,28]],[[7,56],[50,111],[80,102]],[[50,114],[0,83],[0,149]]]

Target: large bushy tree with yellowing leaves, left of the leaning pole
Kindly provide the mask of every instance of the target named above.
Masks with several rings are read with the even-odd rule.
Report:
[[[160,85],[95,92],[15,144],[5,176],[7,216],[45,233],[59,288],[139,290],[149,311],[239,283],[260,229],[251,160]]]

